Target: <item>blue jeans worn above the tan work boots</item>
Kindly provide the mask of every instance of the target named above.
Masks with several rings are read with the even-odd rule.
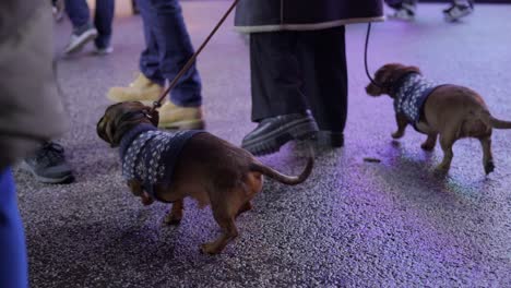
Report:
[[[164,85],[171,81],[193,55],[181,7],[177,0],[138,0],[144,25],[145,49],[140,71],[151,81]],[[193,64],[170,93],[174,104],[182,107],[202,105],[201,79]]]

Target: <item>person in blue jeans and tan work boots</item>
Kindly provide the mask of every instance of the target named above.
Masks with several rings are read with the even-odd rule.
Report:
[[[177,0],[139,0],[145,36],[140,57],[140,74],[128,87],[112,87],[112,101],[139,100],[151,104],[163,93],[193,55],[181,7]],[[170,99],[159,108],[159,127],[202,129],[202,84],[195,65],[180,79]]]

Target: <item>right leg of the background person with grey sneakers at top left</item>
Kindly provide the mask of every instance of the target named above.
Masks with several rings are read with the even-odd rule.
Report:
[[[98,32],[97,38],[94,40],[96,48],[107,51],[110,47],[111,23],[114,21],[115,1],[114,0],[96,0],[96,12],[94,15],[94,26]]]

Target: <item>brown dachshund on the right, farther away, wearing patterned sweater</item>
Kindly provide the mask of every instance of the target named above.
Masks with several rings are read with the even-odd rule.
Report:
[[[433,85],[421,76],[418,68],[397,63],[380,68],[375,83],[371,82],[366,92],[393,98],[397,131],[392,137],[402,137],[406,125],[413,124],[418,132],[428,135],[421,147],[431,151],[440,136],[444,156],[438,170],[449,171],[456,140],[475,137],[483,146],[486,173],[494,171],[491,131],[494,128],[511,129],[511,122],[494,118],[476,92],[451,84]]]

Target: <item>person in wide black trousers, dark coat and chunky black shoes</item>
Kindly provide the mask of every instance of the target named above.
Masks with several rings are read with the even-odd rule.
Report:
[[[250,34],[252,121],[241,146],[254,155],[317,135],[344,145],[345,24],[382,21],[378,0],[241,0],[235,27]]]

